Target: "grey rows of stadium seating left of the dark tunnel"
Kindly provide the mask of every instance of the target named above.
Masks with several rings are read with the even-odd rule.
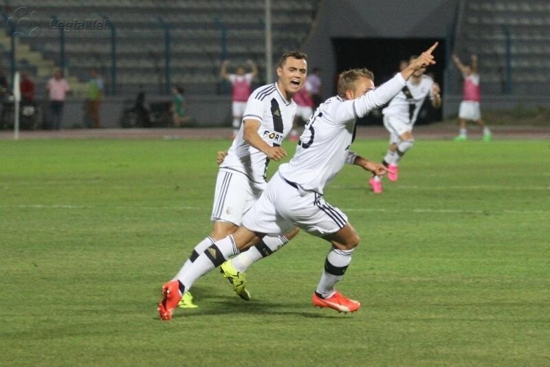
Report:
[[[319,2],[272,1],[275,58],[284,50],[303,44]],[[153,93],[163,90],[165,46],[162,21],[170,27],[170,80],[173,85],[183,85],[190,93],[215,93],[219,90],[219,67],[223,56],[221,27],[227,30],[227,57],[232,65],[250,58],[259,69],[265,67],[263,0],[98,0],[93,6],[82,5],[78,0],[10,1],[11,11],[21,6],[34,12],[32,20],[40,29],[39,36],[28,38],[25,43],[30,45],[32,52],[39,52],[45,60],[53,61],[37,65],[30,56],[18,56],[20,66],[30,69],[37,76],[39,85],[59,64],[60,32],[52,27],[52,16],[63,22],[103,21],[105,16],[109,17],[116,29],[119,94],[135,93],[142,87]],[[8,45],[5,38],[0,42],[4,55]],[[110,30],[68,30],[65,40],[67,73],[85,81],[89,69],[96,67],[109,86]],[[8,66],[4,61],[4,67]]]

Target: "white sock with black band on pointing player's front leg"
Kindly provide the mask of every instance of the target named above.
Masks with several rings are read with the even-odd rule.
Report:
[[[325,260],[325,269],[322,272],[321,280],[317,286],[316,293],[322,298],[329,298],[336,291],[334,285],[343,277],[346,269],[351,263],[353,249],[337,249],[333,247]]]

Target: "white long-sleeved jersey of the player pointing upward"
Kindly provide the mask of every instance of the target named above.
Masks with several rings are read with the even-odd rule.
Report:
[[[404,87],[401,74],[355,100],[331,97],[315,111],[300,136],[294,157],[278,172],[299,190],[323,193],[344,166],[355,135],[355,120],[382,106]]]

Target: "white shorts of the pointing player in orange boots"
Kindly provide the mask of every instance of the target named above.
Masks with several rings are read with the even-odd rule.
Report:
[[[264,234],[285,234],[300,227],[314,236],[338,232],[348,218],[316,192],[303,192],[279,173],[267,183],[260,199],[243,216],[243,225]]]

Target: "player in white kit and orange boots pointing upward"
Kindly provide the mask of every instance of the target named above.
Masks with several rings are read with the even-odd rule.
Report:
[[[357,311],[360,303],[338,293],[334,285],[351,262],[359,237],[345,214],[325,202],[323,189],[346,162],[362,166],[376,175],[386,172],[382,164],[369,162],[349,151],[355,137],[355,120],[391,100],[415,70],[434,64],[431,53],[436,46],[437,43],[376,90],[373,90],[370,71],[353,69],[342,73],[338,96],[329,98],[316,110],[300,136],[296,154],[289,163],[279,167],[261,197],[243,216],[239,230],[208,247],[188,271],[164,285],[158,306],[160,318],[172,318],[181,294],[200,276],[238,254],[240,249],[257,243],[265,234],[282,234],[295,226],[332,245],[312,302],[338,311]]]

